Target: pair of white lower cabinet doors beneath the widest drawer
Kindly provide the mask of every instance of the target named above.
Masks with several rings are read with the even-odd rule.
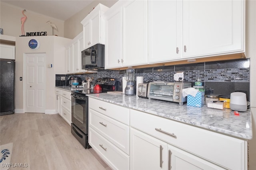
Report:
[[[224,170],[131,127],[131,170]]]

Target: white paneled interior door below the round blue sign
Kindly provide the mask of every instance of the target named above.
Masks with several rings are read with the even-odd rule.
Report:
[[[45,53],[25,55],[25,112],[45,113]]]

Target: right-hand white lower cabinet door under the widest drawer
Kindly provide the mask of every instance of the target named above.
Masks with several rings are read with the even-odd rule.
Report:
[[[168,145],[168,164],[171,170],[224,170],[220,166]]]

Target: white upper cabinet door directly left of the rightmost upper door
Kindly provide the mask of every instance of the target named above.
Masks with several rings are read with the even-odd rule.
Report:
[[[180,0],[148,1],[148,62],[170,61],[182,57]]]

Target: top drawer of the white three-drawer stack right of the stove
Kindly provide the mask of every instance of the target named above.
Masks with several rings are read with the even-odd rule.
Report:
[[[94,98],[89,98],[89,108],[94,109],[108,117],[130,125],[130,109]]]

